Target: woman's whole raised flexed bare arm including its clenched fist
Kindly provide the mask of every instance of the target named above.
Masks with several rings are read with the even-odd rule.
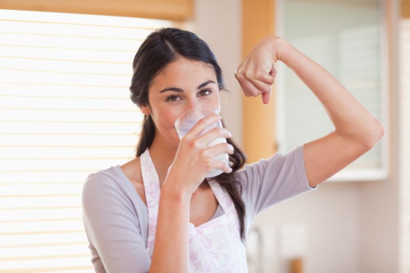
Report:
[[[263,39],[238,67],[245,95],[262,94],[263,102],[269,101],[277,60],[309,87],[335,125],[333,132],[304,145],[306,176],[313,187],[372,149],[384,127],[332,74],[278,36]]]

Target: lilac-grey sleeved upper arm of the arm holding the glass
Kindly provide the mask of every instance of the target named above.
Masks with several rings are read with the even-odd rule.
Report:
[[[131,201],[109,176],[95,173],[83,186],[83,222],[107,272],[148,272],[150,258]]]

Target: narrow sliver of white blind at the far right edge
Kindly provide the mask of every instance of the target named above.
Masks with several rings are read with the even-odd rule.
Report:
[[[401,266],[410,273],[410,19],[400,22],[400,182],[402,204]]]

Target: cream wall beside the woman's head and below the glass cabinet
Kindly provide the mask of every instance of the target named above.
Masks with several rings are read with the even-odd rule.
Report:
[[[241,144],[241,91],[233,77],[241,60],[240,1],[196,0],[193,23],[224,71],[231,94],[222,95],[221,112]],[[289,262],[280,256],[280,230],[286,224],[305,228],[304,273],[398,272],[397,185],[396,177],[386,182],[325,182],[314,192],[266,209],[253,223],[263,227],[265,236],[263,272],[288,272]]]

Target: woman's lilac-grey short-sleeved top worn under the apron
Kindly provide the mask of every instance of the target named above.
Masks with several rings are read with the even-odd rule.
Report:
[[[304,143],[305,144],[305,143]],[[243,182],[245,234],[265,208],[315,190],[306,177],[301,144],[286,154],[276,153],[245,164],[237,174]],[[148,272],[146,249],[148,210],[119,165],[90,174],[83,186],[83,223],[94,270]],[[218,206],[214,219],[223,214]]]

